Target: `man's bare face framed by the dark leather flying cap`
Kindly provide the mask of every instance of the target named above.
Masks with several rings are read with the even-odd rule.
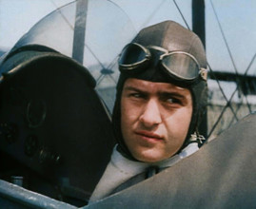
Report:
[[[192,116],[187,88],[130,78],[121,97],[121,129],[132,156],[162,161],[182,146]]]

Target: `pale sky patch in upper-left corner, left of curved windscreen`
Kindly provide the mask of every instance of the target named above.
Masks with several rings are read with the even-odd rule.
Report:
[[[0,48],[10,48],[40,19],[70,0],[0,0]]]

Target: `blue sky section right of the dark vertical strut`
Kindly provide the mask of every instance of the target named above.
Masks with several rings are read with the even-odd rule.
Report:
[[[218,13],[234,63],[238,70],[243,72],[256,53],[256,1],[213,0],[212,2]],[[233,68],[210,4],[207,4],[206,12],[207,55],[211,58],[213,66],[219,69]],[[255,66],[253,74],[255,75]]]

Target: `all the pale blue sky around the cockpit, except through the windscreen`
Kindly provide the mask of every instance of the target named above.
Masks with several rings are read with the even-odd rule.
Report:
[[[56,7],[69,2],[72,1],[0,0],[0,49],[7,50],[12,47],[40,19]],[[112,0],[111,2],[127,13],[137,30],[166,19],[175,20],[186,26],[174,2],[170,0]],[[191,26],[191,1],[176,0],[176,2],[188,25]],[[226,36],[233,63],[210,0],[205,2],[207,58],[210,66],[226,71],[234,71],[236,67],[240,73],[243,73],[256,52],[256,1],[212,0]],[[108,10],[106,12],[108,14]],[[148,18],[149,14],[150,18]],[[255,75],[254,63],[249,73]]]

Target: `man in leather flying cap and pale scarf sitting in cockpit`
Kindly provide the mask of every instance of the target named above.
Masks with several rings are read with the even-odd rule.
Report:
[[[119,59],[113,110],[118,141],[90,202],[187,157],[202,144],[207,59],[196,34],[166,21],[142,29]]]

